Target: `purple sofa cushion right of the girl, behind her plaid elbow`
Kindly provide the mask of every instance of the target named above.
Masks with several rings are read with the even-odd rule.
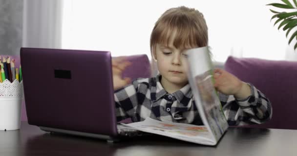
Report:
[[[272,119],[250,127],[297,129],[297,62],[229,57],[225,70],[255,85],[272,103]]]

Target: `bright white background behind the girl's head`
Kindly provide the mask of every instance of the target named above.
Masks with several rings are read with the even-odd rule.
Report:
[[[62,48],[107,50],[113,56],[148,54],[155,21],[171,7],[202,12],[216,61],[236,57],[296,56],[270,19],[280,0],[64,0]],[[291,47],[292,49],[292,47]],[[290,55],[285,51],[291,51]],[[297,58],[297,57],[296,57]]]

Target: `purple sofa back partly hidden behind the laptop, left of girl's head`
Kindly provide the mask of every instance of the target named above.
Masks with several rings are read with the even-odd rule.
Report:
[[[16,59],[16,66],[18,67],[20,65],[20,57],[12,56],[12,58]],[[149,78],[151,76],[150,62],[147,55],[127,56],[127,60],[132,64],[123,72],[123,77],[129,77],[133,80],[135,78]],[[21,107],[21,120],[27,121],[24,101],[22,101]]]

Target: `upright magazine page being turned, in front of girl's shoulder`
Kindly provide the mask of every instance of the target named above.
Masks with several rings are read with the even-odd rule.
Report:
[[[218,93],[214,88],[212,60],[209,47],[187,51],[188,79],[199,115],[217,142],[228,128]]]

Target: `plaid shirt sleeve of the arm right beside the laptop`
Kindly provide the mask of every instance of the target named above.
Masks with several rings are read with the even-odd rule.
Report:
[[[134,80],[131,84],[118,89],[114,93],[117,121],[131,117],[137,107],[138,81]]]

